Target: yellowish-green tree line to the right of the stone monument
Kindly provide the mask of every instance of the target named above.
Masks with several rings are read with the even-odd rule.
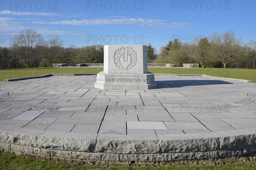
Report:
[[[241,42],[234,31],[215,33],[210,38],[201,38],[197,43],[182,43],[175,39],[160,48],[154,62],[198,63],[211,68],[256,68],[256,42]]]

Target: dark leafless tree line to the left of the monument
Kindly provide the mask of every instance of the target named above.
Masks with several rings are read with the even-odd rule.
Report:
[[[44,40],[41,34],[28,29],[21,31],[10,47],[0,47],[0,69],[52,67],[53,63],[103,63],[103,45],[81,48],[63,47],[63,40],[53,36]]]

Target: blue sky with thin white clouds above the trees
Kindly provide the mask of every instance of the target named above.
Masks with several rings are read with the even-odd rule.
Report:
[[[31,28],[64,46],[148,45],[159,51],[170,40],[234,30],[243,42],[256,41],[255,0],[31,0],[0,1],[1,46]]]

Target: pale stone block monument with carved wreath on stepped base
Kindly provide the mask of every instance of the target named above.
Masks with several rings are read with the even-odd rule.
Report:
[[[95,88],[157,88],[154,74],[148,72],[146,45],[104,45],[104,71],[97,74]]]

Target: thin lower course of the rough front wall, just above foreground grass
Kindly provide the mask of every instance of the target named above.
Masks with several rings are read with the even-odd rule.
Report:
[[[246,147],[233,150],[213,150],[208,152],[190,153],[152,153],[152,154],[115,154],[115,153],[87,153],[79,151],[65,151],[44,149],[40,147],[26,147],[0,142],[0,149],[32,153],[40,156],[54,156],[71,159],[86,159],[98,161],[183,161],[196,159],[221,159],[232,156],[250,156],[256,153],[256,147]]]

